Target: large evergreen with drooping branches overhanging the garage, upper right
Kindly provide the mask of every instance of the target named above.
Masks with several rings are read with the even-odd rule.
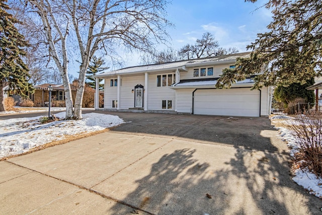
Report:
[[[247,46],[252,50],[249,58],[224,69],[216,87],[230,87],[252,74],[258,74],[255,88],[305,84],[322,75],[322,1],[269,0],[266,8],[273,13],[269,32],[258,34]]]

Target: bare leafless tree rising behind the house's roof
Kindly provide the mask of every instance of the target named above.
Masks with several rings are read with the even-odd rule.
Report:
[[[187,44],[179,50],[179,55],[182,59],[212,57],[219,55],[226,55],[237,53],[238,50],[235,47],[221,48],[219,43],[215,40],[214,36],[206,32],[202,35],[201,39],[197,39],[194,45]]]

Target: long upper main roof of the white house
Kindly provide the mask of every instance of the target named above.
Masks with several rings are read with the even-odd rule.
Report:
[[[94,77],[104,78],[104,77],[115,76],[119,74],[130,75],[130,74],[140,74],[140,73],[153,72],[153,71],[165,71],[165,70],[169,71],[172,69],[176,70],[177,68],[186,70],[185,67],[235,62],[238,57],[248,57],[250,53],[251,52],[243,52],[243,53],[228,54],[228,55],[221,55],[221,56],[215,56],[215,57],[181,60],[181,61],[162,63],[162,64],[132,66],[132,67],[121,68],[118,70],[107,71],[105,73],[96,75]]]

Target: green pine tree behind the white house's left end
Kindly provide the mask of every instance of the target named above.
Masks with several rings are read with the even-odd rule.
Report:
[[[91,88],[95,89],[95,78],[94,76],[101,71],[104,71],[108,69],[109,67],[102,67],[105,64],[104,59],[102,57],[96,57],[93,56],[92,61],[89,65],[89,68],[87,69],[87,75],[86,75],[86,84],[88,84]],[[99,80],[101,81],[101,79]],[[100,90],[104,89],[104,84],[100,84]]]

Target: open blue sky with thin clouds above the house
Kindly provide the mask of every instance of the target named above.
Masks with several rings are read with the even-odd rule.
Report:
[[[267,0],[245,3],[244,0],[173,0],[168,6],[168,20],[175,27],[169,28],[169,46],[180,49],[193,44],[205,32],[210,32],[224,48],[236,47],[244,52],[255,41],[258,33],[267,31],[272,14],[263,6]],[[166,46],[160,45],[159,49]],[[108,62],[109,59],[106,59]],[[124,55],[124,67],[140,62],[139,54]],[[107,63],[108,64],[108,63]],[[110,65],[109,65],[110,66]],[[70,65],[73,67],[73,65]],[[112,67],[113,68],[113,67]],[[114,67],[113,69],[117,69]],[[71,69],[72,71],[74,69]],[[78,74],[71,73],[74,77]]]

